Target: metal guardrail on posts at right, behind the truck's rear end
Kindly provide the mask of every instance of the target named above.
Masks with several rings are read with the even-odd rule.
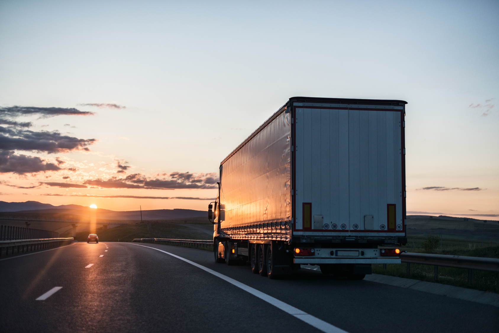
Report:
[[[407,263],[407,275],[411,274],[411,264],[435,266],[435,280],[438,280],[439,266],[468,269],[468,284],[473,281],[473,270],[499,272],[499,259],[495,258],[401,253],[400,259]]]

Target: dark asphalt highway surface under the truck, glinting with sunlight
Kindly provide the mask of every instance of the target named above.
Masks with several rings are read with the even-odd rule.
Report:
[[[142,245],[349,333],[499,332],[499,308],[493,306],[306,269],[270,280],[251,274],[248,265],[215,264],[208,251]],[[74,243],[0,261],[0,331],[321,332],[206,270],[147,247]],[[62,289],[36,300],[54,287]]]

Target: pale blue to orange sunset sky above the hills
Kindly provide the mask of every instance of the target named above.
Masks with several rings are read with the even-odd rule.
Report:
[[[0,0],[0,200],[205,210],[289,97],[402,99],[408,213],[498,220],[498,73],[498,1]]]

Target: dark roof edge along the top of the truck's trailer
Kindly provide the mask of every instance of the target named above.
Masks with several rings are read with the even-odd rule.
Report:
[[[248,141],[258,134],[272,120],[277,118],[279,114],[284,112],[290,102],[308,102],[308,103],[330,103],[330,104],[368,104],[368,105],[405,105],[406,101],[400,99],[360,99],[360,98],[327,98],[327,97],[290,97],[286,104],[282,105],[274,114],[272,114],[263,124],[250,134],[236,149],[234,149],[220,165],[224,164],[232,155],[240,150]],[[290,105],[289,105],[290,106]]]

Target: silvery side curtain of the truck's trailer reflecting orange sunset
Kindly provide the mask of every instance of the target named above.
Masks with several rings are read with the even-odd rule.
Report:
[[[291,123],[281,113],[222,164],[222,228],[291,219]]]

